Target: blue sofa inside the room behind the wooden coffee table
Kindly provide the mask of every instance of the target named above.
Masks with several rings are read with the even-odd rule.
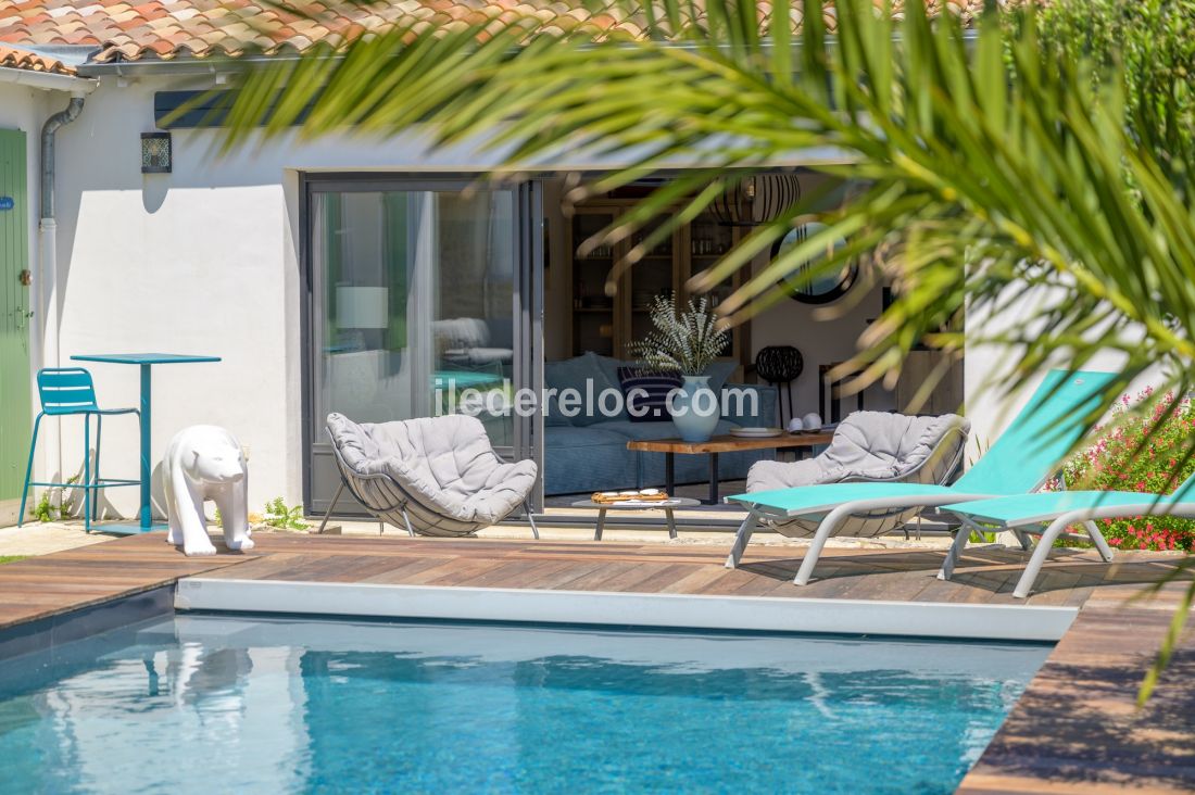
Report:
[[[606,386],[619,386],[618,367],[621,362],[608,356],[587,353],[562,362],[547,362],[544,380],[550,389],[583,389],[592,379],[595,392]],[[724,434],[735,426],[776,424],[777,391],[772,386],[727,384],[734,363],[718,362],[707,371],[710,386],[752,390],[758,395],[758,411],[750,416],[723,414],[715,434]],[[741,406],[744,412],[749,400]],[[740,406],[730,405],[728,409]],[[544,490],[547,495],[590,494],[614,489],[643,489],[664,483],[664,454],[643,453],[626,448],[626,442],[642,439],[669,439],[678,435],[670,420],[663,422],[631,422],[625,411],[618,417],[582,415],[565,418],[549,404],[545,420]],[[747,477],[747,470],[759,460],[771,460],[770,450],[723,453],[718,457],[722,479]],[[704,483],[710,477],[707,455],[676,455],[676,483]]]

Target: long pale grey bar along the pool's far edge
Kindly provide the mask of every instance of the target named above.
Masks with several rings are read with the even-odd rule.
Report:
[[[184,577],[179,611],[1055,642],[1078,607]]]

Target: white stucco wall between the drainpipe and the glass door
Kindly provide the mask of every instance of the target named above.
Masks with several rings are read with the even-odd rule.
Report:
[[[299,371],[288,338],[296,348],[299,324],[290,322],[288,298],[295,306],[298,299],[288,291],[296,289],[298,258],[288,213],[296,203],[287,201],[286,170],[272,158],[215,160],[184,133],[174,136],[174,172],[142,175],[140,134],[154,129],[155,87],[105,79],[59,133],[61,360],[121,351],[221,356],[154,367],[153,460],[185,426],[225,426],[250,448],[251,509],[275,495],[294,501]],[[136,367],[87,366],[104,405],[137,405]],[[135,477],[134,420],[110,420],[105,430],[105,473]],[[63,428],[68,473],[81,448],[80,430]],[[108,494],[131,515],[135,488]]]

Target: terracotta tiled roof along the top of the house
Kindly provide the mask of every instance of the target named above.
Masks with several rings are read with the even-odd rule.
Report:
[[[1018,1],[1018,0],[1001,0]],[[559,31],[592,25],[611,36],[638,37],[643,20],[613,0],[293,0],[305,16],[259,0],[0,0],[0,44],[94,44],[96,61],[302,51],[338,45],[391,25],[459,29],[492,19],[534,16]],[[881,0],[876,0],[877,6]],[[770,4],[760,4],[770,13]],[[901,0],[891,4],[900,13]],[[964,17],[983,0],[930,0],[931,11]],[[701,8],[701,4],[697,4]],[[700,11],[698,12],[700,16]],[[310,18],[307,18],[310,17]],[[793,8],[793,29],[802,16]],[[834,18],[826,14],[833,30]]]

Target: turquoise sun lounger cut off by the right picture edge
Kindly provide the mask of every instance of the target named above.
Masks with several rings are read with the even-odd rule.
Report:
[[[955,564],[967,548],[970,531],[991,532],[980,522],[1011,530],[1025,544],[1024,536],[1041,536],[1034,555],[1029,558],[1013,597],[1025,599],[1032,591],[1037,575],[1049,556],[1054,542],[1067,527],[1083,525],[1091,543],[1104,561],[1113,559],[1113,550],[1096,525],[1097,519],[1124,519],[1128,516],[1182,516],[1195,519],[1195,476],[1187,478],[1173,494],[1142,494],[1140,491],[1038,491],[973,502],[948,503],[943,510],[958,516],[963,528],[955,536],[939,580],[949,580]]]

